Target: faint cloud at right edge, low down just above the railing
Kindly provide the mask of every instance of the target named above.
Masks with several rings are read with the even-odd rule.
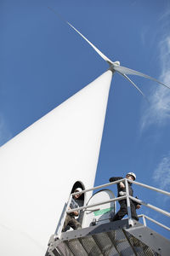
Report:
[[[164,156],[156,170],[153,172],[153,180],[160,189],[169,191],[170,188],[170,152]]]

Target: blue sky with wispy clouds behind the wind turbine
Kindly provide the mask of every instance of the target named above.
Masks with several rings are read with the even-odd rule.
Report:
[[[108,68],[48,6],[112,61],[170,85],[169,1],[2,0],[0,145]],[[95,184],[135,172],[140,183],[169,191],[170,90],[130,78],[149,102],[127,80],[113,77]],[[134,189],[139,198],[170,212],[167,196]],[[170,226],[167,217],[144,207],[142,212]],[[170,238],[168,231],[154,228]]]

